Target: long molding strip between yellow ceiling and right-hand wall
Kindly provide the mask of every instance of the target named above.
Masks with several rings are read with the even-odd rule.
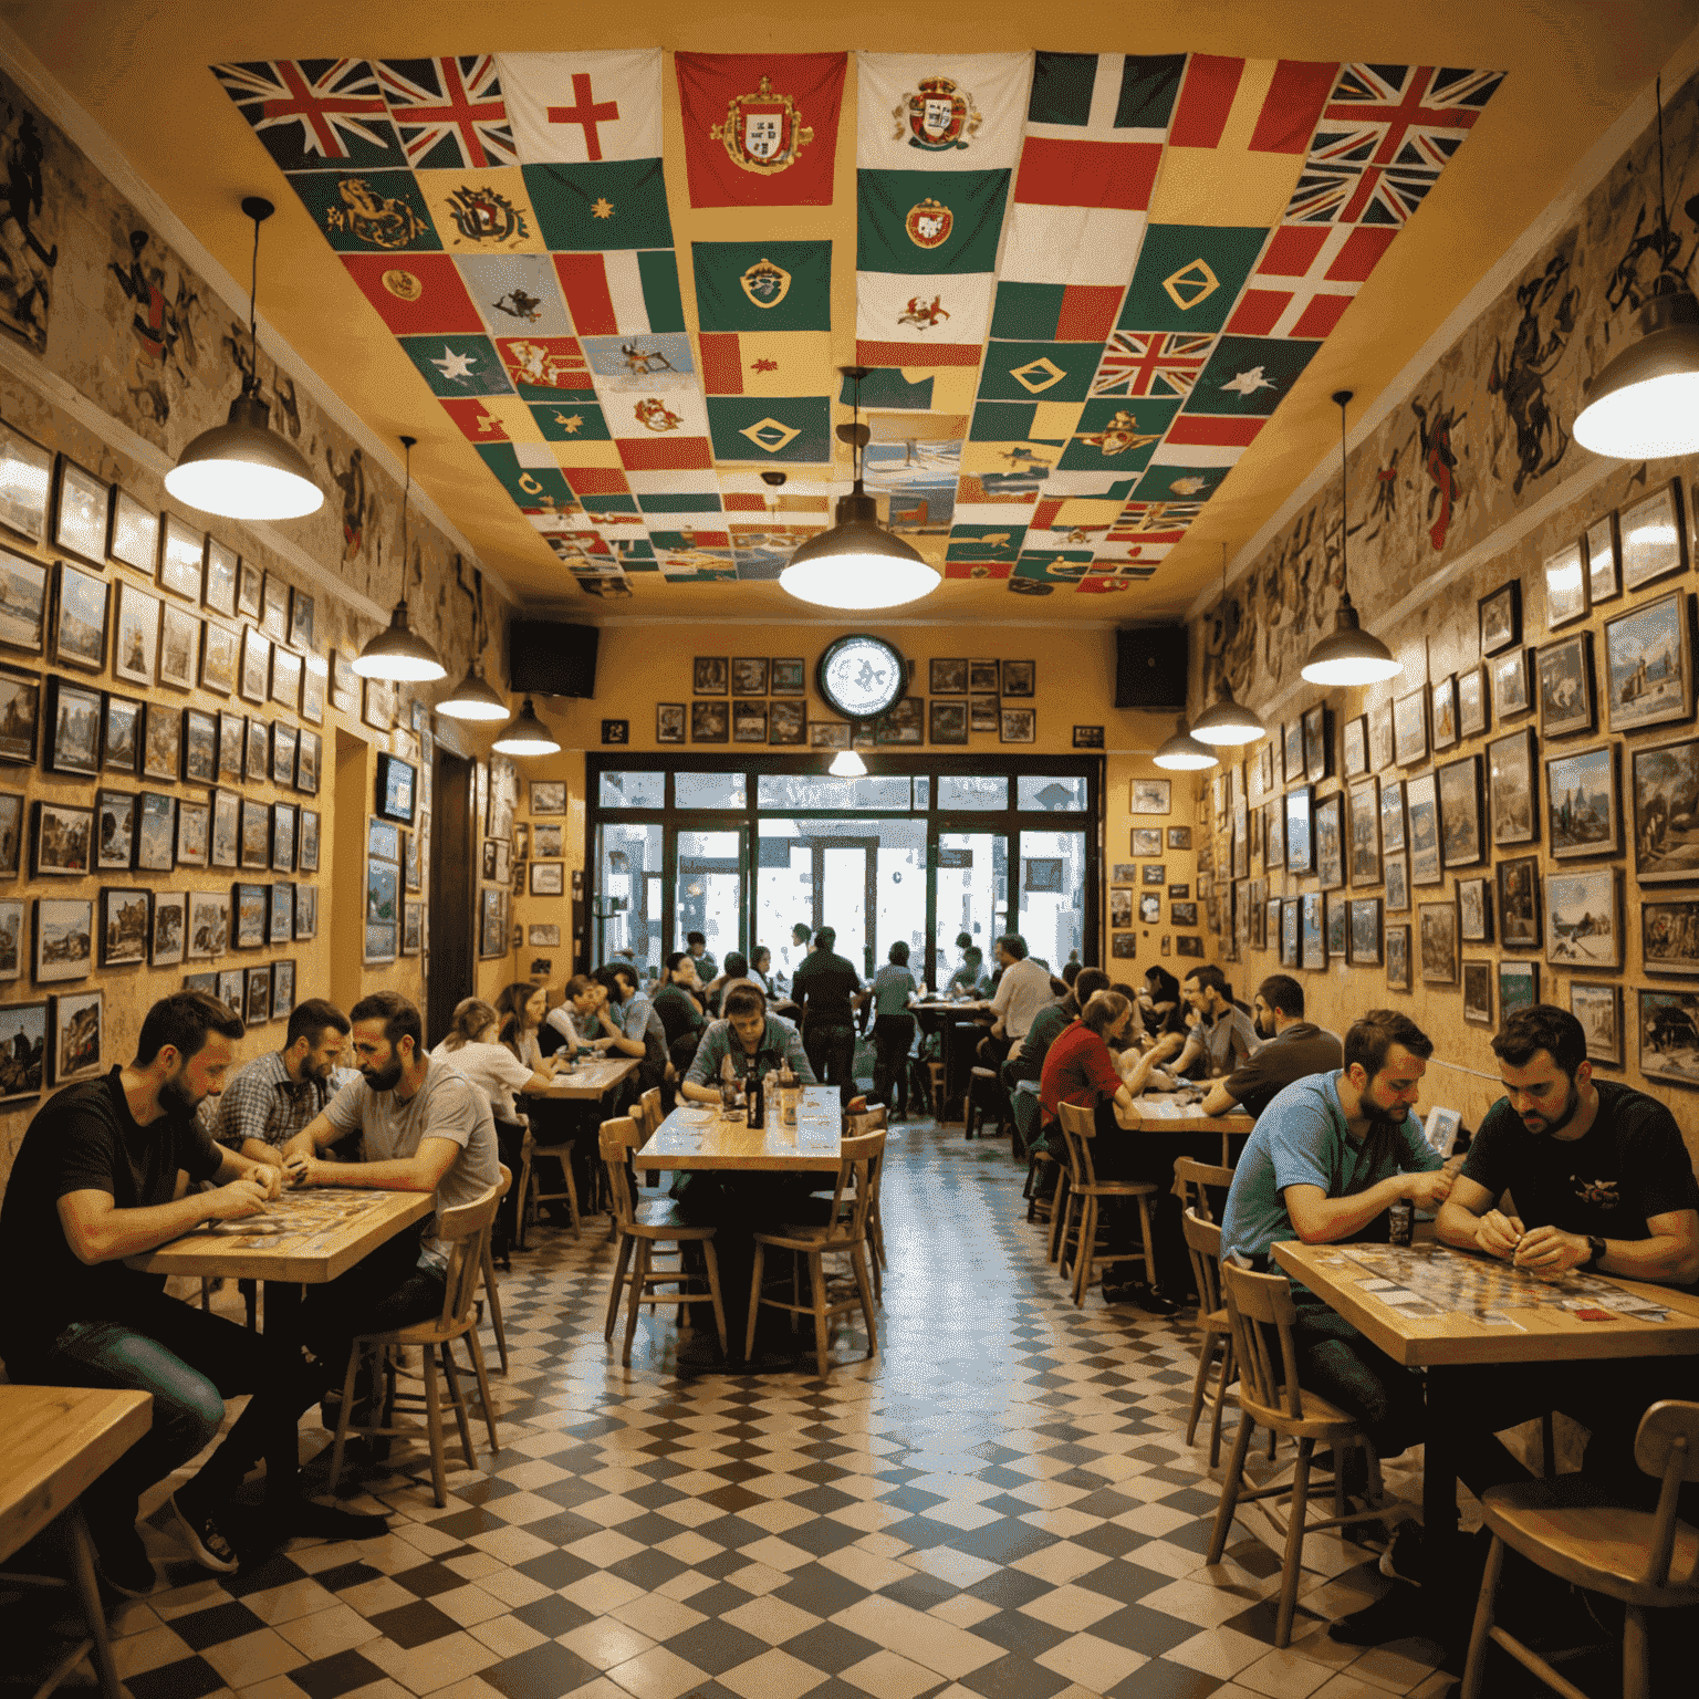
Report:
[[[1670,59],[1660,68],[1662,75],[1672,87],[1680,88],[1680,85],[1699,70],[1699,29],[1696,29],[1680,48],[1670,56]],[[1565,185],[1546,202],[1541,212],[1522,229],[1514,243],[1500,255],[1499,262],[1487,272],[1485,277],[1458,302],[1454,311],[1446,318],[1446,321],[1434,331],[1420,348],[1410,355],[1403,370],[1374,398],[1363,416],[1346,435],[1347,452],[1356,449],[1380,426],[1381,420],[1386,418],[1393,408],[1403,406],[1403,403],[1415,392],[1417,384],[1432,370],[1434,365],[1451,350],[1453,343],[1470,328],[1470,325],[1478,319],[1487,308],[1509,287],[1516,275],[1534,258],[1539,250],[1556,236],[1563,226],[1568,223],[1575,209],[1582,204],[1604,182],[1611,167],[1629,150],[1634,138],[1640,136],[1648,124],[1657,117],[1657,95],[1653,92],[1653,83],[1646,83],[1645,88],[1623,109],[1616,122],[1587,150],[1585,155],[1577,161],[1575,170],[1570,172]],[[1600,471],[1614,466],[1614,460],[1600,460]],[[1262,523],[1256,535],[1240,545],[1233,554],[1227,567],[1227,581],[1232,584],[1235,578],[1247,573],[1262,554],[1262,550],[1279,535],[1286,523],[1296,516],[1296,513],[1308,503],[1320,489],[1332,479],[1337,472],[1339,462],[1334,459],[1334,450],[1329,449],[1327,454],[1315,464],[1315,471],[1305,477],[1293,493],[1274,510],[1274,513]],[[1473,550],[1471,550],[1473,552]],[[1449,578],[1449,574],[1448,574]],[[1208,590],[1199,591],[1191,607],[1186,610],[1184,624],[1191,625],[1193,620],[1201,618],[1201,615],[1215,607],[1220,600],[1220,588],[1211,584]],[[1403,607],[1405,603],[1400,603]],[[1376,615],[1380,618],[1381,615]]]

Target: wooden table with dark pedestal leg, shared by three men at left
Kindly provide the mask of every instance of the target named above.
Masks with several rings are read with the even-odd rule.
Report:
[[[437,1208],[428,1191],[364,1191],[352,1186],[313,1186],[285,1191],[263,1215],[211,1222],[182,1239],[127,1257],[144,1274],[265,1281],[265,1332],[282,1352],[301,1346],[301,1288],[323,1286],[347,1274],[362,1257]],[[382,1517],[350,1516],[301,1499],[294,1470],[272,1478],[267,1459],[265,1499],[289,1532],[360,1539],[382,1532]]]

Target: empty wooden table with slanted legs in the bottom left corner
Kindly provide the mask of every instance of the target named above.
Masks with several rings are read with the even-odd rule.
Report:
[[[59,1662],[37,1694],[51,1692],[93,1653],[107,1699],[122,1699],[80,1500],[153,1425],[153,1395],[83,1386],[0,1386],[0,1424],[7,1436],[5,1463],[0,1465],[0,1560],[63,1517],[71,1546],[71,1587],[88,1626],[88,1638]]]

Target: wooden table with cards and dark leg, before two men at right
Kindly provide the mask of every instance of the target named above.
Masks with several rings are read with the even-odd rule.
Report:
[[[1490,1257],[1448,1245],[1305,1245],[1283,1240],[1274,1261],[1337,1310],[1395,1363],[1427,1371],[1427,1429],[1422,1454],[1422,1522],[1425,1543],[1442,1555],[1456,1539],[1458,1448],[1456,1434],[1470,1420],[1468,1376],[1461,1371],[1483,1363],[1600,1361],[1611,1358],[1663,1358],[1699,1354],[1699,1296],[1645,1281],[1606,1274],[1538,1281]],[[1364,1281],[1408,1279],[1391,1295],[1414,1291],[1420,1303],[1391,1303]],[[1482,1300],[1471,1286],[1485,1283]],[[1544,1303],[1532,1300],[1546,1298]],[[1609,1322],[1578,1320],[1553,1298],[1599,1307]],[[1480,1303],[1495,1305],[1483,1320]],[[1619,1305],[1650,1303],[1665,1320],[1648,1320]],[[1448,1308],[1448,1305],[1459,1305]]]

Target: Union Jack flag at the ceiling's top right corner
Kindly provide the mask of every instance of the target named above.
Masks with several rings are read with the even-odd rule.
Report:
[[[1502,80],[1504,71],[1346,65],[1286,223],[1403,224]]]

